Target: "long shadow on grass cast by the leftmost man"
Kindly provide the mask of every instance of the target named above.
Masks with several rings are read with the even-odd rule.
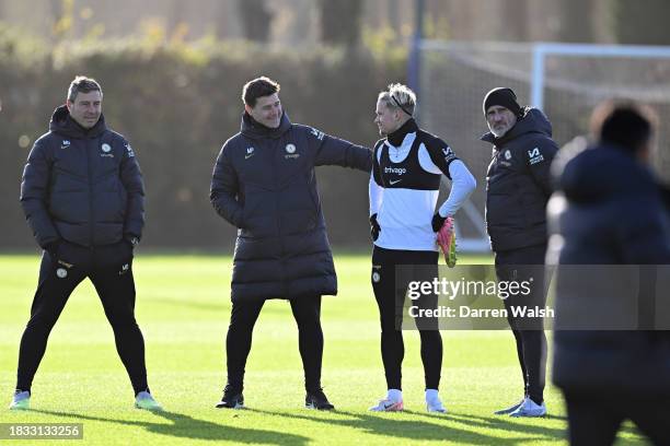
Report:
[[[218,439],[235,443],[254,443],[262,445],[305,445],[310,438],[286,434],[277,431],[264,431],[258,429],[242,429],[229,424],[218,424],[205,420],[197,420],[188,415],[175,412],[150,412],[157,416],[171,421],[171,424],[152,423],[150,421],[115,420],[100,416],[84,415],[81,413],[56,412],[48,410],[31,410],[35,413],[66,416],[77,420],[101,421],[116,423],[127,426],[143,427],[148,432],[169,435],[177,438],[189,439]],[[148,413],[148,412],[143,412]]]

